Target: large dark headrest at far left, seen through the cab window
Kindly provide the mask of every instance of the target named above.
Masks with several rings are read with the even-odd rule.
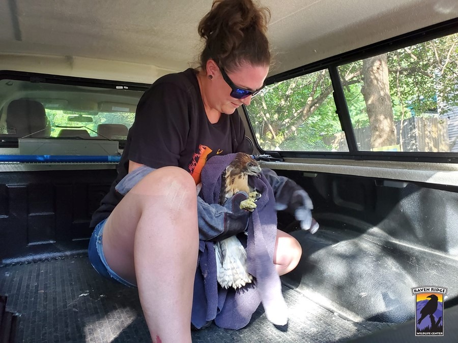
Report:
[[[43,130],[29,137],[49,137],[50,125],[43,104],[28,99],[13,100],[8,105],[7,127],[11,134],[8,137],[24,137]]]

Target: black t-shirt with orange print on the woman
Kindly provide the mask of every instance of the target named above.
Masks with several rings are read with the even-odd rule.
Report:
[[[161,77],[138,102],[118,177],[94,212],[91,227],[108,217],[121,201],[115,186],[127,175],[129,160],[152,168],[183,168],[197,184],[205,162],[213,155],[248,152],[244,137],[237,112],[221,113],[217,123],[210,123],[194,69]]]

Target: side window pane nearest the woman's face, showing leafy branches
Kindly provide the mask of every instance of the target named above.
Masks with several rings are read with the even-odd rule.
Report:
[[[264,150],[335,151],[347,146],[327,70],[267,86],[247,107]]]

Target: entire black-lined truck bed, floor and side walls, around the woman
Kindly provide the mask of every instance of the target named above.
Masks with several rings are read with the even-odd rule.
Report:
[[[101,277],[87,257],[91,213],[113,172],[0,174],[0,296],[8,297],[7,311],[17,314],[13,341],[151,341],[137,291]],[[193,341],[386,342],[386,337],[365,336],[392,337],[399,325],[412,340],[390,341],[417,341],[422,337],[414,335],[411,288],[422,285],[448,287],[444,307],[455,308],[458,317],[458,221],[453,205],[458,189],[415,183],[393,187],[383,180],[345,175],[283,174],[309,192],[313,216],[320,223],[311,235],[297,230],[291,215],[278,215],[279,228],[295,236],[303,251],[297,268],[282,276],[290,309],[288,330],[275,328],[260,306],[244,329],[212,325],[192,332]],[[451,316],[445,316],[444,337],[428,340],[458,341],[449,340],[455,329]],[[2,326],[3,343],[8,340],[2,340]]]

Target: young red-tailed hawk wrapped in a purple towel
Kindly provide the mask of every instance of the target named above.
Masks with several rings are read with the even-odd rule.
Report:
[[[243,191],[248,198],[240,203],[240,208],[253,211],[260,194],[250,188],[248,176],[259,176],[260,173],[261,167],[250,155],[238,152],[222,175],[220,204]],[[215,252],[216,277],[221,287],[237,289],[251,283],[253,276],[247,270],[246,251],[236,236],[215,242]]]

